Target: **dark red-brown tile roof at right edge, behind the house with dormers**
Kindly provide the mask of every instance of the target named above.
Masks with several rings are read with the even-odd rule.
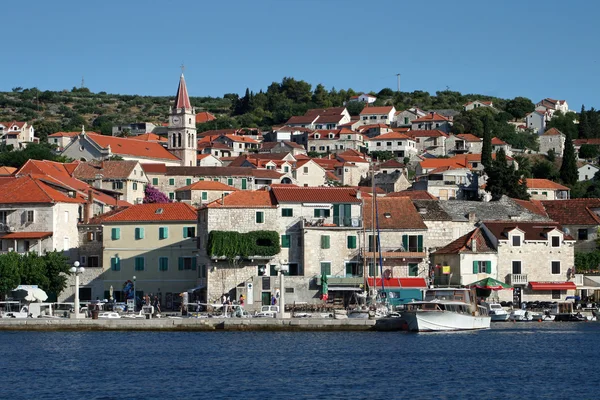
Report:
[[[546,213],[561,225],[600,225],[600,216],[593,209],[600,209],[600,199],[542,200]]]

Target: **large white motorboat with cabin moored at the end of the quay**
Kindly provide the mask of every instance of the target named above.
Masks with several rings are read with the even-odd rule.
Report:
[[[487,308],[476,303],[475,289],[427,289],[425,300],[406,305],[401,313],[414,332],[489,329]]]

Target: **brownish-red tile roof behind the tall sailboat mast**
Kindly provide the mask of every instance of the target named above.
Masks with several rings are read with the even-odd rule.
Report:
[[[365,229],[373,228],[373,198],[365,198]],[[408,197],[377,197],[379,229],[427,229],[421,215]]]

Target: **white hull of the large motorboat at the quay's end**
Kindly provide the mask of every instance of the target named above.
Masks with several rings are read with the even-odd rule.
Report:
[[[402,318],[412,332],[444,332],[489,329],[491,318],[487,315],[468,315],[449,311],[409,311]]]

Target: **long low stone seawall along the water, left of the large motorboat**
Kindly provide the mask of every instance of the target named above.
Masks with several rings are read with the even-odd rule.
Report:
[[[0,331],[395,331],[398,318],[369,319],[0,319]]]

